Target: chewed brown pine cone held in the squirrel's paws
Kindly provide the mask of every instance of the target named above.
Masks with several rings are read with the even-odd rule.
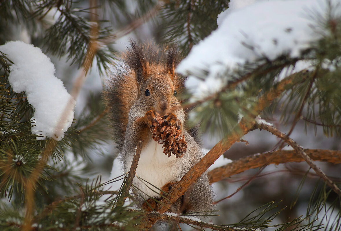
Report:
[[[173,153],[178,158],[186,153],[187,143],[181,130],[175,126],[169,126],[163,118],[157,117],[157,122],[153,122],[150,131],[153,133],[153,140],[163,144],[163,153],[168,157]]]

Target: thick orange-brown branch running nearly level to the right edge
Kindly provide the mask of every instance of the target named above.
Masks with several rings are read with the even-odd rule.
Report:
[[[304,152],[314,161],[341,164],[340,150],[304,149]],[[263,165],[303,161],[305,160],[296,150],[276,150],[275,152],[247,156],[224,166],[214,168],[208,173],[208,179],[212,184],[249,169],[262,167]]]

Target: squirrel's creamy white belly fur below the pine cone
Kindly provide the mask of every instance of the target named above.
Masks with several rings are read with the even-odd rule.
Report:
[[[176,168],[175,155],[168,157],[163,153],[162,144],[150,140],[150,142],[142,148],[141,156],[136,168],[136,176],[145,181],[141,181],[135,176],[133,184],[139,189],[136,190],[145,199],[148,199],[148,196],[160,197],[158,193],[160,193],[162,186],[168,182],[175,182],[177,180],[178,171]]]

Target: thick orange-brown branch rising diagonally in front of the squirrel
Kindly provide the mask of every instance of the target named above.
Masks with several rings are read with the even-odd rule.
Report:
[[[255,117],[269,106],[270,103],[279,97],[285,90],[302,81],[309,76],[306,70],[292,74],[284,78],[281,82],[263,94],[258,103],[250,110],[248,117],[244,117],[238,125],[226,137],[220,140],[214,147],[198,162],[193,168],[184,175],[181,180],[175,184],[170,190],[169,200],[162,199],[159,203],[158,212],[165,213],[181,195],[183,195],[189,186],[193,184],[207,169],[216,161],[226,150],[228,150],[235,142],[239,141],[242,136],[249,131],[255,129]],[[165,205],[165,206],[162,206]],[[139,225],[140,228],[151,228],[156,222],[155,219],[145,218]]]

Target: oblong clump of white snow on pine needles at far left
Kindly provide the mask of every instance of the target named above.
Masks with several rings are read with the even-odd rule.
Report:
[[[14,63],[9,75],[13,91],[25,92],[34,108],[32,133],[41,135],[37,140],[61,140],[73,121],[76,101],[55,77],[53,63],[39,48],[22,41],[7,42],[0,51]]]

